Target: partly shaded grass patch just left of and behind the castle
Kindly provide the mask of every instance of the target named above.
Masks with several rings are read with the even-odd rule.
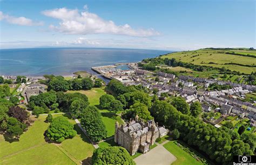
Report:
[[[114,124],[116,121],[119,122],[119,125],[124,123],[120,116],[109,112],[102,112],[102,121],[106,126],[107,138],[114,135]]]

